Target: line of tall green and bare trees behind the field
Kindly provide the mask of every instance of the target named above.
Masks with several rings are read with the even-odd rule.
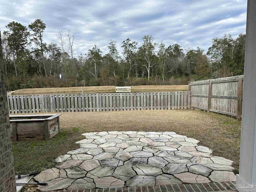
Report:
[[[193,80],[240,75],[244,72],[245,34],[214,38],[207,52],[179,44],[157,44],[150,35],[142,44],[129,38],[110,40],[108,53],[94,45],[84,55],[74,56],[75,35],[58,32],[44,42],[46,24],[40,19],[23,26],[9,22],[2,36],[8,90],[20,88],[187,84]],[[59,74],[64,76],[60,79]]]

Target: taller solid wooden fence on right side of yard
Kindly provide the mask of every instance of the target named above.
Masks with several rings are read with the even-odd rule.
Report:
[[[190,82],[190,107],[241,119],[244,76]]]

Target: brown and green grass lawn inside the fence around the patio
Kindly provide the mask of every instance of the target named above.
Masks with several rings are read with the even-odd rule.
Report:
[[[85,132],[174,131],[200,140],[214,156],[233,160],[239,168],[241,122],[200,110],[140,110],[66,112],[60,116],[61,133],[48,141],[13,142],[16,174],[41,171],[55,165],[54,158],[79,148]]]

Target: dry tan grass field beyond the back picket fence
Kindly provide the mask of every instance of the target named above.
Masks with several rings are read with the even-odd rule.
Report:
[[[106,93],[115,92],[116,86],[91,86],[83,87],[84,93]],[[142,85],[132,86],[132,92],[166,92],[166,91],[187,91],[188,85]],[[14,91],[14,95],[26,94],[74,94],[82,93],[82,87],[62,87],[62,88],[34,88],[19,89]]]

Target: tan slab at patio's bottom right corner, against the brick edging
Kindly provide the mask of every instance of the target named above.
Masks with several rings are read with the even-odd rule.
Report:
[[[213,182],[235,181],[236,176],[232,171],[213,171],[209,178]]]

